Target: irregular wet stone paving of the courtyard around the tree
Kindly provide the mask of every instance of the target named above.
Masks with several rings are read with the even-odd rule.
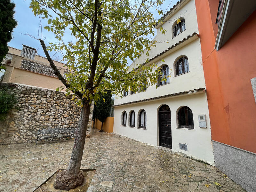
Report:
[[[0,191],[32,192],[68,167],[73,141],[0,146]],[[92,131],[82,168],[96,169],[88,192],[245,192],[217,168],[114,133]]]

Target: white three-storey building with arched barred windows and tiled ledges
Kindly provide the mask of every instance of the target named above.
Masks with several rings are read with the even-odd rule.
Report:
[[[157,89],[149,86],[145,92],[124,92],[127,96],[116,98],[114,132],[214,165],[195,1],[181,0],[164,21],[165,35],[155,26],[154,40],[162,43],[148,58],[170,77],[158,82]],[[135,60],[130,70],[146,58],[144,54]],[[199,115],[205,121],[199,122]]]

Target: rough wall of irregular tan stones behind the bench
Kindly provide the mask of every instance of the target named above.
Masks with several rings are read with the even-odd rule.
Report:
[[[1,83],[4,85],[7,83]],[[0,121],[0,144],[35,142],[37,132],[46,128],[76,128],[80,117],[80,107],[66,97],[65,92],[20,84],[13,87],[20,110],[13,108],[5,121]],[[90,137],[93,105],[86,137]],[[66,139],[66,138],[63,138]]]

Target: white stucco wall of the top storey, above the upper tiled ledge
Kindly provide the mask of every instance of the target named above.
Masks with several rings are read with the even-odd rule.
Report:
[[[177,11],[178,10],[178,11]],[[130,66],[129,70],[132,68],[136,68],[137,64],[145,63],[146,59],[151,59],[155,55],[165,51],[172,45],[175,45],[179,41],[182,41],[189,35],[192,35],[194,32],[198,34],[198,26],[196,19],[196,5],[195,0],[186,0],[182,1],[182,4],[179,4],[174,9],[175,13],[171,13],[171,17],[167,19],[167,21],[162,25],[163,29],[166,30],[165,34],[160,32],[160,28],[157,29],[157,33],[155,34],[155,38],[152,41],[157,41],[156,47],[152,47],[149,52],[149,56],[147,57],[146,52],[141,54],[140,58],[137,58]],[[174,23],[177,23],[177,19],[183,17],[185,19],[186,29],[182,31],[179,35],[172,38],[172,26]],[[168,42],[168,43],[166,43]]]

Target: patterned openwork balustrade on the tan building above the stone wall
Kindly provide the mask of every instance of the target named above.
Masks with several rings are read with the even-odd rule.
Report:
[[[21,61],[20,68],[28,71],[33,71],[36,73],[52,76],[52,77],[57,77],[56,75],[53,74],[54,71],[50,66],[42,65],[40,63],[36,63],[36,62],[25,60],[25,59]]]

